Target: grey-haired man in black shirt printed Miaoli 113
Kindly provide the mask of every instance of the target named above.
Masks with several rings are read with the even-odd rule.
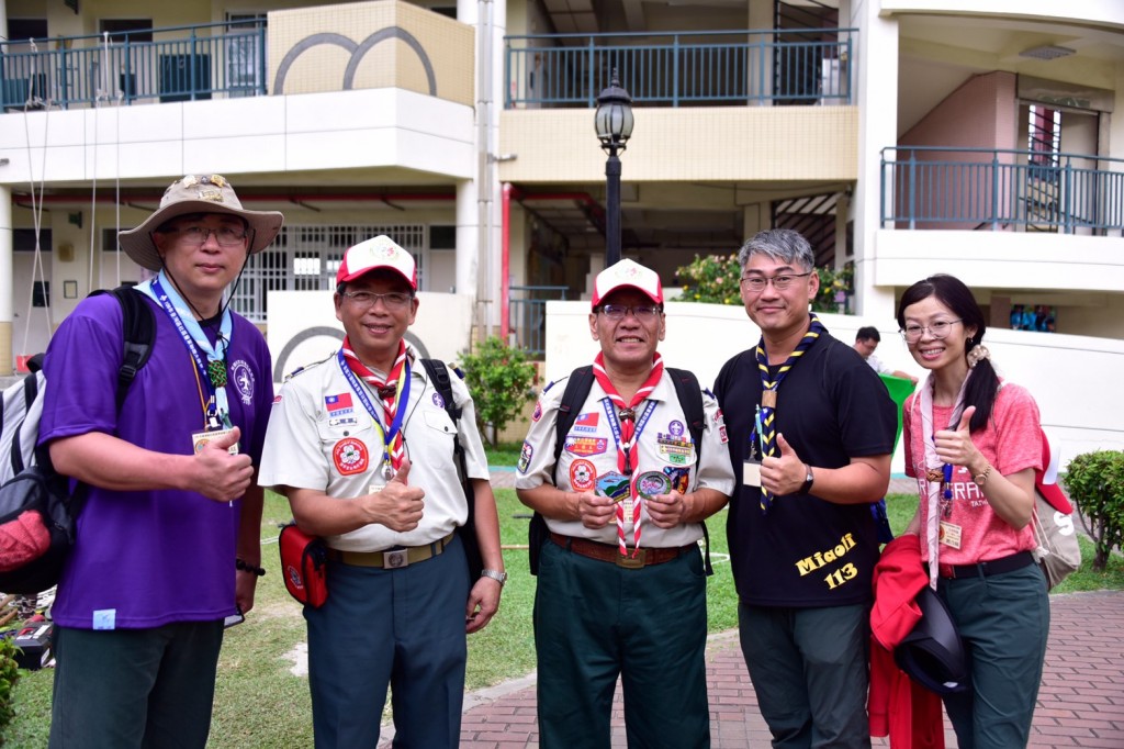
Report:
[[[761,232],[738,262],[762,337],[715,395],[741,479],[726,530],[742,653],[773,746],[869,747],[870,503],[889,485],[895,406],[809,315],[819,280],[803,236]]]

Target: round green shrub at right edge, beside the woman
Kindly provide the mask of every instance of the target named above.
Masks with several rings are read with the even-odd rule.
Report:
[[[1103,572],[1108,554],[1124,541],[1124,452],[1098,450],[1078,455],[1069,462],[1066,488],[1096,547],[1093,569]]]

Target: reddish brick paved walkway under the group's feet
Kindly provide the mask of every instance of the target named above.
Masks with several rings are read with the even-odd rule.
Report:
[[[1124,592],[1051,597],[1045,674],[1031,749],[1124,747]],[[769,732],[737,648],[735,632],[707,648],[714,749],[768,747]],[[462,749],[536,747],[534,675],[466,695]],[[625,747],[620,694],[614,705],[613,746]],[[948,746],[957,746],[945,724]],[[389,739],[391,730],[384,731]],[[389,746],[384,740],[382,746]],[[876,739],[876,747],[888,746]],[[673,748],[672,748],[673,749]]]

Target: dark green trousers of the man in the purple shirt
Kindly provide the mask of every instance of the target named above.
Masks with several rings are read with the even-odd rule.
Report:
[[[49,746],[201,749],[221,646],[223,620],[147,630],[56,628]]]

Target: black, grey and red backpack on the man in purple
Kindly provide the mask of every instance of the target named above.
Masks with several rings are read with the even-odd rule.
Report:
[[[155,322],[148,304],[132,287],[98,290],[90,296],[99,294],[112,294],[121,305],[124,357],[117,373],[120,412],[129,385],[152,354]],[[11,445],[2,455],[6,464],[0,472],[11,476],[0,486],[0,590],[4,593],[35,594],[58,583],[85,499],[85,487],[79,484],[71,491],[70,478],[55,471],[49,450],[36,444],[46,386],[42,366],[43,354],[31,358],[31,372],[4,390],[0,412],[0,444]],[[39,524],[46,529],[49,543],[33,557],[38,550],[31,551],[35,547],[28,542],[28,532]]]

